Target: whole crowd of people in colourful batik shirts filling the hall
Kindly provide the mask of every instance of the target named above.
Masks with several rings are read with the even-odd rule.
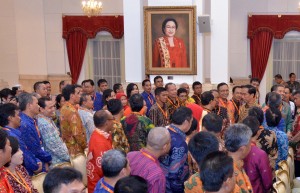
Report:
[[[300,176],[300,84],[276,84],[260,104],[260,80],[222,82],[202,91],[195,81],[109,88],[105,79],[36,82],[34,92],[0,91],[0,192],[38,192],[31,177],[47,172],[44,192],[266,193],[278,163],[295,150]],[[97,90],[98,88],[98,90]],[[298,152],[297,152],[298,151]],[[86,155],[87,187],[73,168]]]

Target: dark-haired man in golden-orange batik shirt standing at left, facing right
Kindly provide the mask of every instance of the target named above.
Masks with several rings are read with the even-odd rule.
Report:
[[[87,148],[85,128],[76,107],[80,101],[81,88],[79,85],[67,85],[62,95],[66,103],[60,110],[61,137],[67,145],[70,156],[75,156],[84,153]]]

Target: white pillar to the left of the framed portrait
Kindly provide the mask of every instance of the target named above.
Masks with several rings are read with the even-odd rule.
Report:
[[[144,78],[143,1],[123,0],[125,81],[142,82]]]

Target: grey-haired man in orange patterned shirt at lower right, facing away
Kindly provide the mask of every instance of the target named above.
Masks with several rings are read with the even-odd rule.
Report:
[[[243,159],[251,150],[251,129],[244,124],[231,125],[225,132],[225,148],[233,159],[235,182],[241,192],[253,192],[250,180],[243,169]]]

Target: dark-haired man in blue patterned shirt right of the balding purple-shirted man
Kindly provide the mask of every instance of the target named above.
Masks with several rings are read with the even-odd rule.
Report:
[[[171,135],[171,149],[160,159],[167,179],[167,193],[183,193],[184,191],[183,183],[189,175],[185,133],[190,129],[192,121],[192,110],[187,107],[179,107],[171,117],[171,125],[168,127]]]

